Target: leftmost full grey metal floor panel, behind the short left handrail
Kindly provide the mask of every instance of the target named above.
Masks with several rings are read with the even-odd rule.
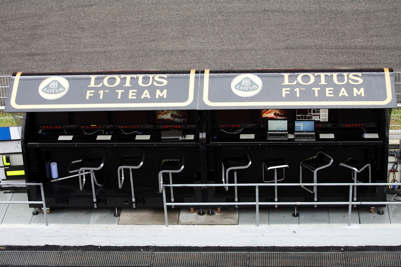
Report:
[[[14,193],[11,201],[28,201],[28,195],[26,193]],[[2,224],[30,224],[32,211],[33,208],[29,208],[28,204],[8,204]]]

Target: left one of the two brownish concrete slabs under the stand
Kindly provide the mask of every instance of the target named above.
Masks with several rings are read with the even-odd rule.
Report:
[[[178,224],[180,209],[167,209],[169,225]],[[119,225],[164,225],[164,209],[162,208],[122,208]]]

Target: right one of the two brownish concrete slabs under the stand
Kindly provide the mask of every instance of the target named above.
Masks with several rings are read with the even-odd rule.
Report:
[[[180,217],[178,218],[179,225],[238,225],[238,208],[222,208],[221,212],[217,212],[217,208],[212,208],[215,212],[213,215],[198,215],[200,208],[195,208],[194,213],[190,212],[189,208],[181,208]],[[208,212],[209,208],[204,208],[203,211]]]

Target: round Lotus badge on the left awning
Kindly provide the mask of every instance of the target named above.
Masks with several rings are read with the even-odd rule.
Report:
[[[59,99],[68,91],[69,83],[63,77],[50,77],[39,85],[39,94],[46,99]]]

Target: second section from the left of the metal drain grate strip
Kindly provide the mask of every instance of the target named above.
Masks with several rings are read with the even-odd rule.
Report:
[[[152,252],[63,251],[59,266],[151,266]]]

